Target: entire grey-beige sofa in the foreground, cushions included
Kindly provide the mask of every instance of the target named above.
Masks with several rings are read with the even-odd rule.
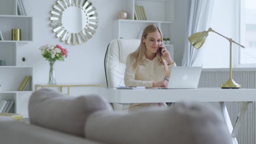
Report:
[[[1,144],[232,144],[222,118],[198,103],[113,112],[100,96],[43,88],[29,100],[29,118],[0,117]]]

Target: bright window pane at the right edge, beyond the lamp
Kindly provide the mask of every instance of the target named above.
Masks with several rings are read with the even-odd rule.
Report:
[[[256,64],[256,0],[240,0],[239,64]],[[252,66],[252,65],[251,65]]]

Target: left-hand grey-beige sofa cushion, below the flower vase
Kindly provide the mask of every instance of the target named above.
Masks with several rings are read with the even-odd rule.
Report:
[[[30,123],[77,136],[84,136],[85,120],[99,110],[112,111],[112,107],[96,95],[75,97],[42,88],[29,99]]]

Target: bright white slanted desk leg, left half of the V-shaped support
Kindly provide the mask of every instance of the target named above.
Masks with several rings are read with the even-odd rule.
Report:
[[[229,133],[232,134],[233,126],[232,126],[232,123],[231,123],[231,120],[229,117],[229,113],[227,111],[226,104],[225,104],[225,102],[220,102],[220,105],[221,105],[221,112],[222,112],[224,119],[227,123],[227,128],[229,129]],[[238,144],[236,137],[233,137],[232,140],[233,140],[233,144]]]

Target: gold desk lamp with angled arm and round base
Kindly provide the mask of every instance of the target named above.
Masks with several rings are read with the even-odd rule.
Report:
[[[245,48],[243,45],[240,45],[239,43],[236,43],[234,40],[231,38],[227,38],[224,35],[219,34],[218,32],[214,31],[213,29],[209,28],[208,31],[203,31],[203,32],[197,32],[189,37],[189,42],[196,48],[200,48],[204,43],[205,43],[205,38],[208,36],[209,32],[214,32],[221,37],[226,38],[229,43],[230,43],[230,51],[229,51],[229,80],[221,85],[221,88],[240,88],[241,85],[237,84],[233,79],[232,79],[232,43],[235,43],[239,45],[242,48]]]

